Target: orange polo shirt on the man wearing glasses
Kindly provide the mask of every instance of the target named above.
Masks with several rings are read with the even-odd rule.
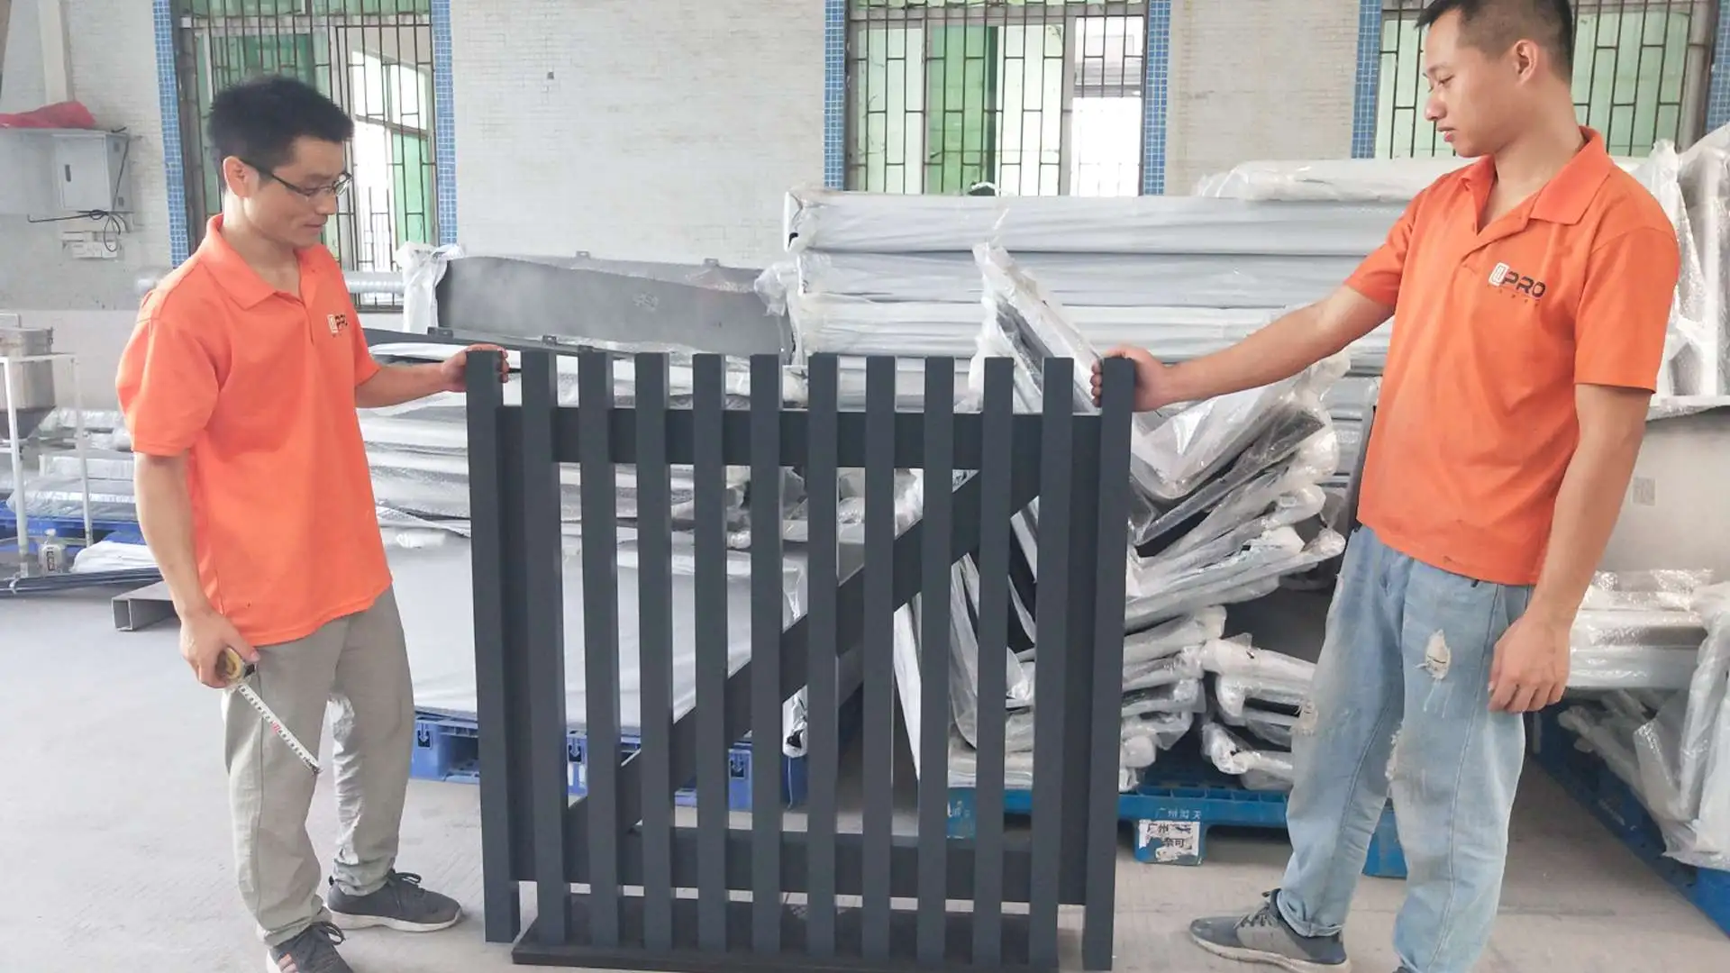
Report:
[[[254,646],[291,642],[389,587],[355,386],[379,372],[325,248],[301,293],[266,284],[209,222],[144,300],[116,388],[135,452],[189,457],[211,606]]]

